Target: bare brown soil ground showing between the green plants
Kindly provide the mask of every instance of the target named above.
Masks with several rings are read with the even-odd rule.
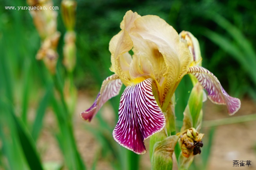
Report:
[[[74,115],[73,120],[77,145],[89,170],[91,169],[95,159],[95,154],[100,151],[100,145],[95,137],[85,129],[85,124],[89,125],[89,123],[84,122],[80,118],[79,113],[89,108],[93,103],[93,100],[94,99],[89,97],[86,93],[80,92],[75,112],[77,114]],[[226,113],[225,106],[212,104],[209,100],[205,103],[204,112],[204,120],[215,120],[230,117]],[[113,122],[113,110],[109,104],[105,104],[103,106],[102,113],[104,113],[104,119],[106,119],[107,122],[115,123]],[[256,104],[249,99],[244,99],[242,100],[240,110],[235,116],[253,113],[256,113]],[[52,134],[52,129],[56,129],[57,126],[55,122],[54,115],[49,110],[44,120],[44,128],[39,138],[38,148],[44,162],[53,161],[63,163],[61,151],[59,150],[57,141]],[[93,120],[91,124],[91,126],[97,126],[97,120]],[[201,131],[206,134],[208,132],[208,128],[203,128]],[[146,148],[149,148],[149,139],[145,140],[145,145]],[[149,153],[147,152],[142,155],[140,159],[140,169],[149,170]],[[250,160],[251,165],[249,167],[233,167],[233,160]],[[96,169],[111,170],[112,166],[108,161],[100,158]],[[177,169],[175,163],[173,169]],[[256,169],[256,121],[218,126],[215,131],[208,169]]]

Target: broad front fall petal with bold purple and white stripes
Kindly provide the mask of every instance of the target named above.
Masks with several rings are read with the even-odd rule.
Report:
[[[144,140],[165,127],[165,116],[152,92],[153,80],[127,86],[120,99],[119,118],[113,137],[120,145],[144,154]]]

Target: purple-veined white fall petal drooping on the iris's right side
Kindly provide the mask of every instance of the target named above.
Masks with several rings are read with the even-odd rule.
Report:
[[[208,92],[208,98],[215,104],[226,104],[229,115],[235,114],[240,108],[241,102],[235,97],[231,97],[223,89],[217,77],[204,67],[193,66],[188,69],[188,73],[193,74],[204,89]]]

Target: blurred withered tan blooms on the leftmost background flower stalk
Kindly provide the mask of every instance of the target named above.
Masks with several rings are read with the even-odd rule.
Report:
[[[27,0],[27,4],[46,9],[53,6],[52,0]],[[30,10],[30,14],[41,37],[41,47],[36,58],[43,60],[50,73],[54,74],[59,56],[56,48],[60,37],[60,32],[57,31],[57,12],[55,10]]]

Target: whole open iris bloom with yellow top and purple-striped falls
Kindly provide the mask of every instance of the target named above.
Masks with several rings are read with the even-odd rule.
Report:
[[[103,81],[93,105],[81,113],[90,122],[124,84],[113,131],[120,145],[137,154],[146,152],[144,140],[165,127],[164,113],[185,74],[197,78],[213,103],[226,104],[230,115],[240,108],[240,100],[229,96],[210,71],[197,65],[194,47],[163,19],[128,11],[120,28],[109,43],[110,70],[115,74]]]

